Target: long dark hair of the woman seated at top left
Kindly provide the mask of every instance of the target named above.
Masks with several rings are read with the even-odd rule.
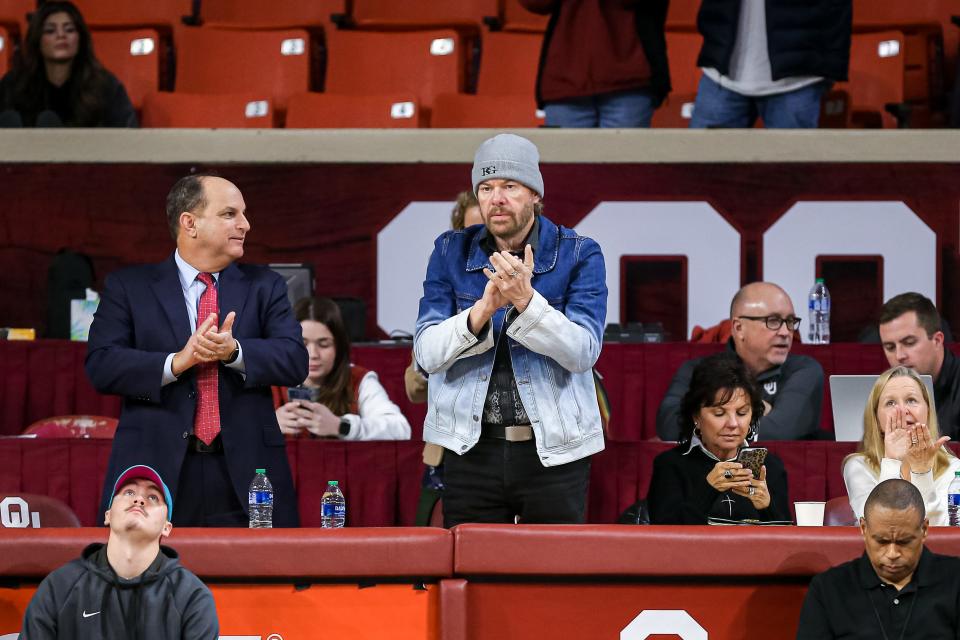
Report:
[[[66,13],[77,29],[79,42],[77,56],[70,65],[70,104],[73,112],[64,121],[65,125],[92,127],[100,124],[106,108],[105,92],[110,84],[110,74],[93,54],[90,29],[72,2],[44,2],[30,16],[27,35],[10,71],[11,103],[14,109],[27,118],[48,109],[47,70],[40,51],[43,25],[55,13]]]

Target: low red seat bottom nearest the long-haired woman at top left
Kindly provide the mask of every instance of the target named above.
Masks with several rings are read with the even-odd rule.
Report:
[[[267,129],[273,109],[265,93],[148,93],[140,121],[143,127]]]

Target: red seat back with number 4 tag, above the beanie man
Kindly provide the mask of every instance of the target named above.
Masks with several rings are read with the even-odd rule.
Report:
[[[328,93],[416,95],[429,112],[434,97],[464,85],[464,47],[452,30],[327,34]]]

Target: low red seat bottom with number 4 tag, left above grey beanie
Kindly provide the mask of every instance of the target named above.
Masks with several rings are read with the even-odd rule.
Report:
[[[377,128],[420,126],[420,108],[412,95],[344,96],[299,93],[290,97],[287,129]]]

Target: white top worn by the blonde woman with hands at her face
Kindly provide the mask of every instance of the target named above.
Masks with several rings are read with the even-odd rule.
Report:
[[[955,471],[960,471],[960,459],[951,455],[950,466],[940,474],[939,478],[933,477],[932,470],[926,473],[910,473],[910,482],[923,496],[923,503],[927,509],[927,517],[930,519],[931,526],[945,527],[949,524],[947,519],[947,489],[950,487]],[[853,514],[857,518],[863,516],[863,505],[875,486],[884,480],[900,477],[902,476],[900,475],[899,460],[883,458],[880,461],[880,475],[878,476],[867,465],[867,458],[863,454],[857,454],[849,458],[843,465],[843,482],[847,485],[847,496],[850,498],[850,508],[853,509]]]

